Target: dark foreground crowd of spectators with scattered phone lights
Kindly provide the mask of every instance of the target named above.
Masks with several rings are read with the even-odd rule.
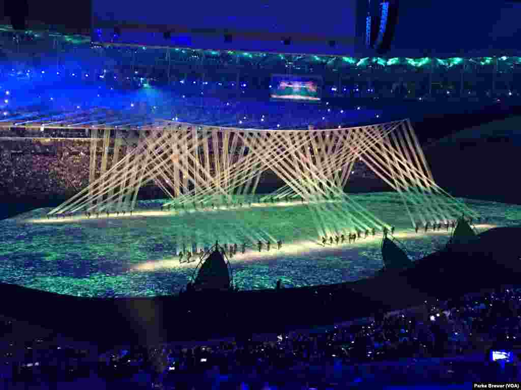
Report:
[[[118,347],[98,355],[95,366],[85,352],[64,346],[69,351],[67,360],[59,346],[49,352],[39,348],[42,341],[36,340],[25,344],[29,354],[26,351],[13,355],[12,349],[4,353],[3,375],[12,378],[9,370],[13,367],[18,371],[25,368],[26,374],[47,372],[48,361],[56,361],[53,354],[59,354],[69,376],[81,378],[94,370],[104,380],[145,378],[148,386],[155,384],[159,388],[191,388],[196,382],[187,384],[187,378],[198,381],[196,388],[201,388],[201,378],[245,378],[253,383],[296,375],[309,381],[317,367],[322,372],[331,370],[344,382],[357,378],[410,381],[411,375],[423,381],[454,381],[457,375],[457,380],[467,382],[483,378],[519,380],[517,357],[513,363],[502,365],[491,362],[487,352],[498,345],[515,350],[516,339],[521,336],[520,310],[521,289],[502,288],[452,300],[433,300],[421,307],[319,329],[243,334],[201,343]],[[2,326],[16,330],[16,324],[10,321],[4,321]],[[18,357],[18,365],[13,366],[13,356]],[[31,370],[27,370],[28,363]]]

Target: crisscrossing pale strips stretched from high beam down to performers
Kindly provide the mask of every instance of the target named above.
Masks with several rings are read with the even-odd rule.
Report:
[[[150,182],[170,199],[165,207],[231,207],[238,196],[255,194],[261,175],[271,171],[285,186],[262,199],[301,199],[320,236],[389,228],[344,192],[360,160],[400,193],[413,226],[477,216],[435,183],[408,120],[308,131],[162,121],[130,131],[137,132],[132,141],[124,132],[91,129],[90,184],[49,214],[133,210],[139,189]]]

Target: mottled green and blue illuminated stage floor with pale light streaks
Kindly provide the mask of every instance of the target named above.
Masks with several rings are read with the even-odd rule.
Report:
[[[441,248],[449,238],[445,230],[414,233],[399,194],[352,195],[386,223],[396,226],[395,237],[413,259]],[[172,255],[182,245],[206,237],[208,244],[235,242],[241,246],[243,231],[235,241],[223,237],[237,221],[252,231],[284,242],[281,251],[258,253],[252,244],[246,253],[231,259],[234,282],[240,289],[274,288],[282,279],[286,287],[354,281],[373,275],[382,267],[381,236],[354,244],[322,248],[306,205],[257,205],[245,209],[160,212],[164,200],[139,202],[133,216],[86,219],[51,219],[49,209],[33,210],[0,221],[0,281],[78,296],[154,296],[178,292],[193,274],[197,262],[179,264]],[[494,226],[521,222],[521,206],[465,200]],[[211,242],[210,242],[211,238]],[[177,248],[176,248],[177,246]]]

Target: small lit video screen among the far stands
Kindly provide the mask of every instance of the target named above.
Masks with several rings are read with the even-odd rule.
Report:
[[[271,76],[269,94],[272,100],[320,102],[322,79],[315,76],[274,74]]]

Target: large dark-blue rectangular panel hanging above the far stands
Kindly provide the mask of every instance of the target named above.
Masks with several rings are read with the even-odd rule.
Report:
[[[358,0],[92,2],[92,40],[275,53],[355,54]]]

